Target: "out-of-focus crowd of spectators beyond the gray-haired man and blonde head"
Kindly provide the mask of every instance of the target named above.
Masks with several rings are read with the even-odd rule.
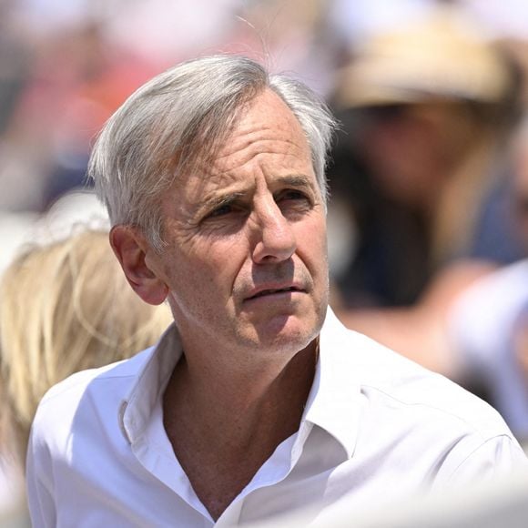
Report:
[[[55,237],[94,214],[87,157],[124,99],[218,52],[299,77],[340,118],[328,222],[341,319],[528,439],[525,0],[0,0],[0,272],[57,203],[74,200]],[[5,481],[0,508],[19,487]]]

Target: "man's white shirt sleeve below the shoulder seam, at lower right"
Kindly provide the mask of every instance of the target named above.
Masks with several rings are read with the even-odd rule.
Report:
[[[483,442],[463,459],[448,483],[492,481],[517,472],[528,475],[528,457],[511,437],[501,435]]]

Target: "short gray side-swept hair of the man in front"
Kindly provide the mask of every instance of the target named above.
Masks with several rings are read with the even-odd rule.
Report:
[[[160,197],[178,175],[196,168],[198,156],[214,156],[240,109],[265,89],[280,96],[299,120],[326,203],[325,167],[336,127],[329,108],[299,81],[269,75],[247,57],[205,56],[138,88],[97,137],[88,177],[112,225],[135,225],[162,249]]]

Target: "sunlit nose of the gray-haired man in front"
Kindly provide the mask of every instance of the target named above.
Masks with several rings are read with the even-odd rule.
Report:
[[[255,214],[253,261],[266,264],[287,260],[297,249],[295,234],[274,200],[253,211]]]

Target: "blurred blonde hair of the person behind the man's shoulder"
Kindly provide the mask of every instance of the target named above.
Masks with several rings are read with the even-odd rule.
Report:
[[[15,259],[0,284],[4,432],[24,457],[44,393],[73,372],[123,360],[154,344],[171,321],[140,300],[105,231],[84,230]]]

